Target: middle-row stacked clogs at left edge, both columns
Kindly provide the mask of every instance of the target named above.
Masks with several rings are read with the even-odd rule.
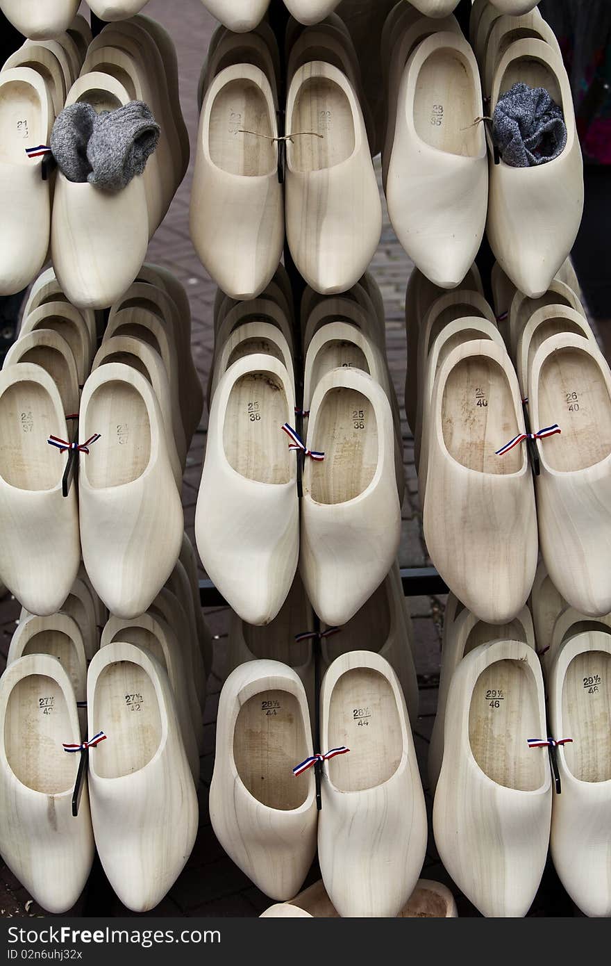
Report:
[[[141,614],[181,552],[182,469],[203,393],[184,290],[156,266],[139,278],[96,353],[94,312],[44,272],[0,374],[0,575],[32,613],[61,607],[82,552],[106,608]],[[78,505],[76,487],[62,496],[74,448]]]

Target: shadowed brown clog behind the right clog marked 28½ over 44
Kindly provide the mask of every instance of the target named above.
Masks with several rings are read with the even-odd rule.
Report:
[[[347,624],[323,630],[320,641],[322,667],[328,668],[341,654],[350,651],[379,654],[397,674],[409,721],[415,725],[418,720],[418,680],[412,655],[413,639],[411,617],[405,607],[401,576],[395,563]]]

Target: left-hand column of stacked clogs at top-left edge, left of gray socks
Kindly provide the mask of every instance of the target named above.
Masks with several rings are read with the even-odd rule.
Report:
[[[0,72],[1,295],[29,285],[48,254],[52,193],[51,181],[42,180],[42,151],[81,70],[91,30],[84,17],[70,16],[55,36],[26,41]]]

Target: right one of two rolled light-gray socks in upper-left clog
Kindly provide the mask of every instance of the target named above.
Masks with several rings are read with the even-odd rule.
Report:
[[[98,114],[87,145],[87,181],[106,191],[120,191],[144,171],[159,132],[151,108],[142,100]]]

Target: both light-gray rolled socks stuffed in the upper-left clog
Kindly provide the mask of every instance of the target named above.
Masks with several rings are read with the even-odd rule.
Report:
[[[144,171],[159,131],[142,100],[101,114],[91,104],[70,104],[53,125],[51,151],[69,181],[120,191]]]

